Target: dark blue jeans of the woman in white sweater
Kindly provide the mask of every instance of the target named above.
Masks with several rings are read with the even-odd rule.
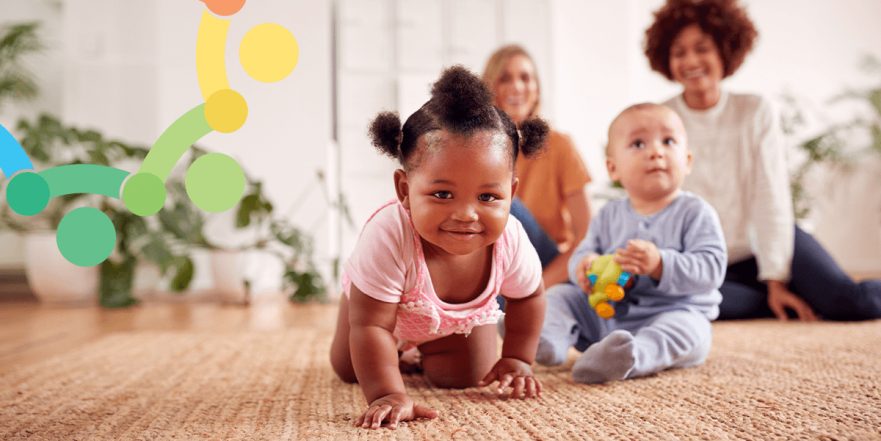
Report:
[[[720,319],[774,316],[768,307],[768,286],[757,277],[755,258],[728,266],[720,288]],[[798,227],[788,288],[826,320],[881,318],[881,280],[854,282],[816,239]]]

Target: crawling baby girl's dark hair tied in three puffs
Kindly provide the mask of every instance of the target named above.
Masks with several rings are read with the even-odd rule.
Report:
[[[517,126],[492,103],[492,94],[483,82],[462,66],[443,72],[431,88],[431,99],[410,115],[404,126],[396,113],[382,112],[370,124],[373,145],[383,154],[397,159],[405,170],[416,166],[411,159],[419,138],[435,130],[448,130],[470,136],[482,130],[497,130],[511,141],[511,167],[519,152],[532,156],[544,147],[548,125],[531,118]]]

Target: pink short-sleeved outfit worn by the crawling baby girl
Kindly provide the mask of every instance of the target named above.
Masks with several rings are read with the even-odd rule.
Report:
[[[368,219],[346,262],[343,290],[354,283],[364,294],[398,303],[394,335],[406,349],[451,334],[468,335],[475,326],[495,324],[504,313],[496,296],[527,297],[541,282],[541,262],[520,222],[509,217],[493,244],[486,288],[473,300],[447,303],[438,298],[409,212],[389,202]]]

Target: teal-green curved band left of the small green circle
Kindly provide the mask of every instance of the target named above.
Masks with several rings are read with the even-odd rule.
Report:
[[[106,165],[70,164],[39,172],[49,184],[49,197],[66,194],[100,194],[119,199],[119,189],[128,172]]]

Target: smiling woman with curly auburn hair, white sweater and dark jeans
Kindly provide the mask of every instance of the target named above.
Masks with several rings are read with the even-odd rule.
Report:
[[[798,226],[779,118],[759,96],[728,92],[758,33],[735,0],[668,0],[646,31],[653,70],[682,85],[695,167],[684,188],[719,212],[728,245],[720,318],[881,318],[881,281],[855,283]]]

